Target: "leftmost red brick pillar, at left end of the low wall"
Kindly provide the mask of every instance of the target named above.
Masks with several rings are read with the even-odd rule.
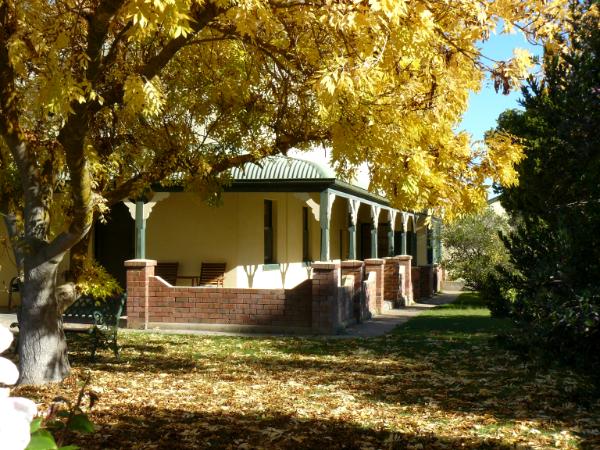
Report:
[[[127,328],[148,328],[148,298],[150,277],[156,261],[130,259],[127,269]]]

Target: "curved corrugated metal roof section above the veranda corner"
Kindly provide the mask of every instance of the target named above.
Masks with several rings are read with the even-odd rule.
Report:
[[[314,161],[270,156],[260,163],[246,163],[231,170],[236,181],[243,180],[323,180],[333,179],[335,174]]]

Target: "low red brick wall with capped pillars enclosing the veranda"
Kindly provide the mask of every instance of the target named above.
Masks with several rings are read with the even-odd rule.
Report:
[[[294,289],[170,286],[154,276],[155,264],[152,260],[126,262],[130,328],[160,323],[231,324],[332,334],[347,323],[380,312],[385,292],[381,259],[367,261],[370,277],[364,289],[361,261],[343,264],[348,276],[345,286],[340,286],[339,264],[314,263],[312,279]]]

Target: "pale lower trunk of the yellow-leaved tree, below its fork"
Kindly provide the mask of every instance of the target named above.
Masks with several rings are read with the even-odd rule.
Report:
[[[71,370],[55,293],[61,259],[25,269],[19,313],[19,384],[61,381]]]

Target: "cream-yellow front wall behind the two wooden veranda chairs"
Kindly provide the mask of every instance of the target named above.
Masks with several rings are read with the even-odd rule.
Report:
[[[264,200],[274,202],[278,265],[263,264]],[[222,206],[211,207],[195,194],[171,194],[147,221],[146,255],[178,261],[180,275],[198,275],[202,262],[226,262],[226,287],[296,286],[310,274],[302,261],[302,207],[314,207],[310,200],[295,193],[225,193]],[[320,228],[310,211],[311,256],[318,259]]]

